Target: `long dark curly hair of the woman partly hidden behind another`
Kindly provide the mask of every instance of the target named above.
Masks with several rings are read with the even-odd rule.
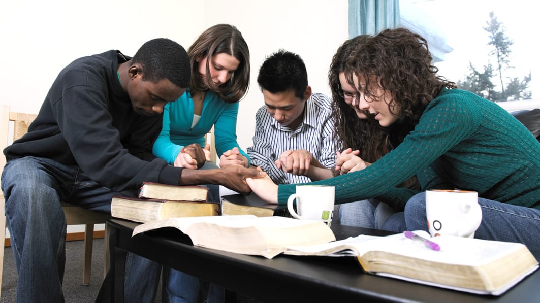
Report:
[[[336,51],[328,71],[328,81],[332,91],[332,112],[336,123],[336,150],[352,148],[360,150],[362,160],[373,163],[391,149],[388,142],[388,130],[369,115],[368,119],[359,119],[343,98],[343,88],[339,81],[340,73],[345,71],[345,64],[354,51],[372,38],[361,35],[346,40]],[[369,121],[373,120],[373,121]]]

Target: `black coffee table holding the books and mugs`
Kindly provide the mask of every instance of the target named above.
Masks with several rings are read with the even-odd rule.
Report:
[[[109,218],[111,290],[123,302],[126,251],[211,281],[233,292],[265,302],[534,302],[540,300],[540,271],[500,297],[475,295],[363,273],[354,258],[280,255],[273,259],[193,246],[176,229],[131,237],[139,223]],[[334,224],[337,239],[360,234],[386,236],[378,230]],[[540,259],[540,252],[534,252]],[[511,266],[501,264],[501,266]]]

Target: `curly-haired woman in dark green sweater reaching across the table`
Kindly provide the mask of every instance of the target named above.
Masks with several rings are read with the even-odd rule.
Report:
[[[359,46],[346,64],[347,81],[356,88],[351,105],[382,127],[414,128],[371,166],[313,184],[335,186],[336,203],[379,197],[405,205],[404,213],[388,219],[396,231],[404,222],[408,229],[427,230],[423,191],[474,190],[483,216],[475,237],[540,250],[540,143],[503,108],[455,89],[437,71],[426,40],[406,29],[384,30]],[[414,174],[420,193],[395,187]],[[269,178],[247,182],[279,204],[296,185],[278,187]]]

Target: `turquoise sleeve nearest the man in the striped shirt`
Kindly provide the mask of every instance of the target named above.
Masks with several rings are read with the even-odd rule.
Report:
[[[240,148],[237,142],[236,127],[239,102],[227,104],[224,111],[218,116],[214,125],[215,150],[220,157],[227,150],[238,147],[240,153],[251,163],[249,156]]]

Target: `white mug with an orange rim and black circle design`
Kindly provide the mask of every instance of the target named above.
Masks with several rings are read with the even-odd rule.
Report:
[[[478,193],[466,190],[426,191],[426,216],[431,236],[474,238],[482,222]]]

